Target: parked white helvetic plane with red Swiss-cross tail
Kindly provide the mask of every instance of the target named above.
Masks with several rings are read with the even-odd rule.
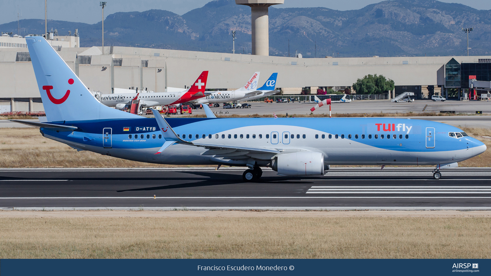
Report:
[[[144,108],[187,103],[209,94],[205,92],[207,79],[208,71],[203,71],[191,87],[182,92],[102,94],[101,103],[118,110],[128,106],[136,96],[138,96],[138,100],[143,101],[141,106]]]

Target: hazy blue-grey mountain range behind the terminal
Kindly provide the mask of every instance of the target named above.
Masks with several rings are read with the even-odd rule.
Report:
[[[184,15],[165,10],[117,12],[104,21],[105,45],[205,52],[251,52],[250,7],[215,0]],[[44,20],[19,22],[21,35],[44,33]],[[436,0],[388,0],[358,10],[324,7],[269,9],[270,55],[424,56],[491,54],[491,10]],[[48,21],[59,35],[79,29],[81,47],[101,45],[101,22]],[[0,25],[17,33],[17,21]]]

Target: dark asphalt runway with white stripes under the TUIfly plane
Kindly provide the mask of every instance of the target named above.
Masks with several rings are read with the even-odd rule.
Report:
[[[491,169],[331,168],[324,176],[241,168],[1,169],[0,209],[491,210]]]

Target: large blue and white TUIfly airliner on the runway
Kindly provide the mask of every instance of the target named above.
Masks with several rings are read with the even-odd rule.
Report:
[[[42,37],[26,37],[48,122],[13,120],[41,134],[117,158],[175,165],[261,166],[279,175],[322,175],[329,165],[457,166],[486,150],[461,129],[396,118],[144,118],[109,108],[87,90]],[[205,105],[204,105],[205,106]]]

